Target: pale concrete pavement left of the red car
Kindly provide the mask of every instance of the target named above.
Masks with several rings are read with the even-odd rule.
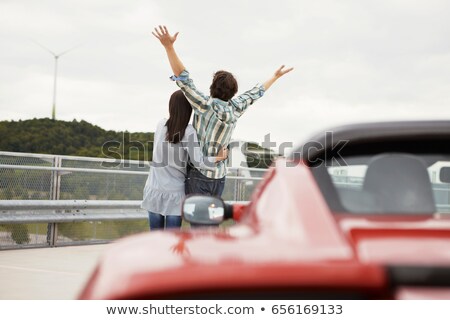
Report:
[[[0,251],[0,299],[77,297],[108,245]]]

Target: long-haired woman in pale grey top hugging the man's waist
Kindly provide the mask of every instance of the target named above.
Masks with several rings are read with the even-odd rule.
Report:
[[[153,160],[144,188],[141,207],[149,214],[150,229],[179,228],[181,202],[188,158],[200,167],[213,170],[215,162],[225,160],[227,149],[217,157],[203,158],[194,127],[188,124],[192,107],[181,90],[169,101],[169,119],[158,123],[153,143]]]

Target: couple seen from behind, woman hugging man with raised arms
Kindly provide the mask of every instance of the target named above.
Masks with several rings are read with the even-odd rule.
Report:
[[[174,49],[178,32],[170,35],[165,26],[159,26],[152,34],[164,46],[174,74],[171,79],[181,89],[170,97],[169,119],[157,126],[152,168],[144,188],[142,208],[149,212],[150,229],[154,230],[181,226],[181,203],[186,194],[222,195],[226,147],[237,120],[293,68],[281,66],[266,82],[235,98],[236,79],[227,71],[217,71],[208,96],[195,87]]]

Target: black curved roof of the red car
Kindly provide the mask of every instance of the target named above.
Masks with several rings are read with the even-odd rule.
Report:
[[[396,121],[346,125],[321,131],[297,148],[292,158],[317,160],[380,152],[450,154],[450,120]]]

